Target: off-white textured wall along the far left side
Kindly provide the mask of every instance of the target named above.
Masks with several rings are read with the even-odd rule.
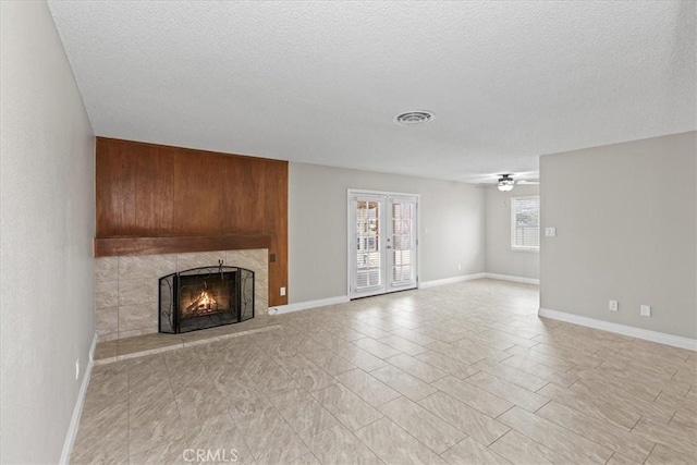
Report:
[[[94,336],[94,136],[46,2],[0,8],[0,462],[57,463]]]

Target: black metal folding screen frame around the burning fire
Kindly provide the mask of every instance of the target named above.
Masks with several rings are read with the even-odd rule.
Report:
[[[198,328],[185,329],[182,331],[182,316],[180,306],[180,291],[182,286],[182,277],[212,277],[216,274],[231,274],[234,279],[234,295],[235,295],[235,308],[233,319],[228,322],[217,322],[215,325],[206,326],[198,325]],[[249,282],[250,281],[250,282]],[[243,287],[245,286],[245,287]],[[248,294],[245,294],[245,291]],[[163,303],[163,292],[166,292],[169,304]],[[208,328],[216,328],[228,325],[235,325],[242,321],[246,321],[255,317],[255,273],[254,271],[241,268],[241,267],[228,267],[222,266],[222,262],[218,266],[189,268],[187,270],[178,271],[175,273],[167,274],[158,280],[158,332],[163,334],[182,334],[185,332],[192,332],[196,330],[203,330]],[[232,305],[232,303],[231,303]],[[243,308],[244,305],[244,308]],[[252,313],[249,315],[248,307],[250,306]],[[167,307],[167,308],[163,308]],[[197,316],[199,321],[208,318],[219,316],[221,313]],[[163,318],[167,318],[167,328],[163,330]],[[221,317],[222,318],[222,317]]]

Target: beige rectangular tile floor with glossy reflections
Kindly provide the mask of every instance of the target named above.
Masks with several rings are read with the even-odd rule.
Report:
[[[96,366],[72,463],[697,463],[697,354],[477,280]]]

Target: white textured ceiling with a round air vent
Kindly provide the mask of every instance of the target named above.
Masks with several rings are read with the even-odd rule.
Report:
[[[480,181],[697,127],[694,1],[49,4],[100,136]]]

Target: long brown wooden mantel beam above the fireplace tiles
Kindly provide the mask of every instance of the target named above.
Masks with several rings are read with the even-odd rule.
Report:
[[[95,257],[121,255],[183,254],[187,252],[243,250],[270,248],[267,234],[219,236],[97,237]]]

